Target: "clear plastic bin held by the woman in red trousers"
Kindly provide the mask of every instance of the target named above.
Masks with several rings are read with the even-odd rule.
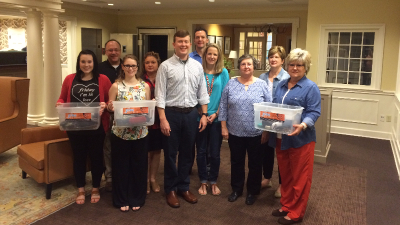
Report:
[[[300,124],[302,112],[301,106],[254,103],[254,126],[260,130],[290,134],[294,131],[293,124]]]

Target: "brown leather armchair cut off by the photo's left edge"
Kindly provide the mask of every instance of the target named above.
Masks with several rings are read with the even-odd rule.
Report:
[[[0,77],[0,153],[20,144],[28,117],[29,79]]]

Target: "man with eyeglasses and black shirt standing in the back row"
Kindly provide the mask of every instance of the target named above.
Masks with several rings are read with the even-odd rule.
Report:
[[[99,64],[99,73],[106,75],[113,84],[121,71],[121,44],[115,39],[110,39],[105,44],[105,50],[107,60]],[[110,119],[113,120],[114,116],[111,115]],[[103,146],[104,164],[106,166],[106,170],[104,171],[104,177],[106,178],[105,189],[108,192],[112,191],[110,134],[110,130],[106,132]]]

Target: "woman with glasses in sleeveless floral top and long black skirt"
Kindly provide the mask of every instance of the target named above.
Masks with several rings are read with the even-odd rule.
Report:
[[[150,100],[150,87],[140,79],[138,68],[136,56],[126,55],[123,58],[121,73],[109,92],[112,99],[107,107],[109,111],[114,111],[113,101]],[[136,108],[127,109],[129,122],[143,117],[143,114],[135,117]],[[122,212],[128,212],[130,208],[136,212],[146,199],[148,129],[147,126],[118,127],[115,120],[116,116],[111,129],[113,204]]]

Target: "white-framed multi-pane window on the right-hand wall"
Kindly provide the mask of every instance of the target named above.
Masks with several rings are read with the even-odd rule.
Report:
[[[323,25],[318,83],[380,89],[384,25]]]

